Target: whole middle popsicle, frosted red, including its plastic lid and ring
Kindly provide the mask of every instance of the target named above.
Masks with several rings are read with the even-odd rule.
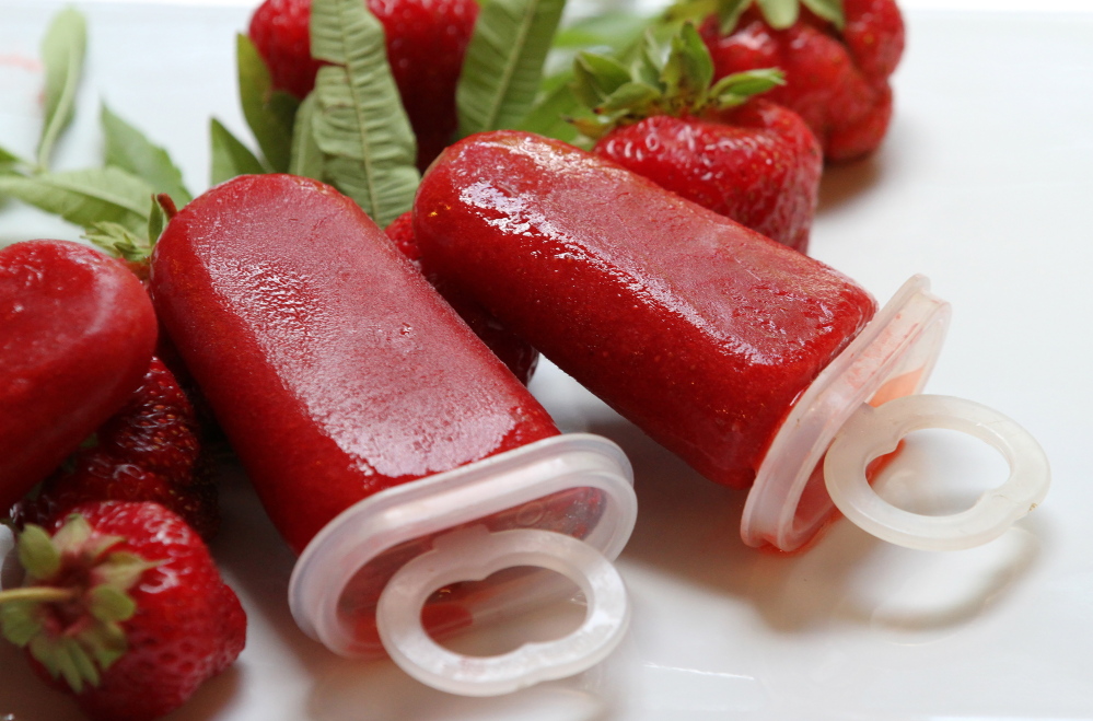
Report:
[[[300,554],[288,591],[305,632],[473,695],[578,673],[618,642],[626,593],[609,560],[636,515],[625,456],[559,434],[350,199],[289,175],[229,181],[171,220],[151,286]],[[581,628],[498,658],[435,644],[550,597],[528,566],[580,585]]]

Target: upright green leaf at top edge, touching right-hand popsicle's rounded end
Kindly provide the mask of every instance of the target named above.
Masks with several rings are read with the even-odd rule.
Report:
[[[490,0],[467,46],[455,101],[460,137],[516,126],[535,103],[566,0]]]

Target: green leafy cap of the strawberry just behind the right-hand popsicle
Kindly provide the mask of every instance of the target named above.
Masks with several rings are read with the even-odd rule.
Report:
[[[598,140],[617,127],[655,115],[705,117],[743,105],[784,84],[781,70],[764,68],[713,82],[713,60],[694,24],[685,23],[667,48],[652,33],[627,68],[615,58],[581,53],[573,61],[573,93],[594,117],[570,121]]]

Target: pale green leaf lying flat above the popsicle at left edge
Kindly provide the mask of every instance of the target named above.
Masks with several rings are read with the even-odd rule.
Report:
[[[0,175],[0,194],[19,198],[83,228],[113,221],[142,233],[148,228],[152,188],[126,171],[107,166],[34,177]]]

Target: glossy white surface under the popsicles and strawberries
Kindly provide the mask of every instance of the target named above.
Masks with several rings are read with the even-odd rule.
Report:
[[[33,147],[30,59],[56,7],[0,2],[0,138],[14,150]],[[105,97],[204,188],[208,117],[246,137],[232,71],[246,10],[84,10],[91,62],[65,164],[97,160],[92,111]],[[927,389],[998,408],[1039,439],[1055,477],[1042,508],[970,551],[891,547],[840,522],[803,554],[757,553],[737,536],[743,493],[697,478],[547,367],[533,389],[561,425],[612,438],[637,468],[640,513],[619,562],[632,626],[607,661],[466,699],[389,662],[340,660],[293,626],[293,559],[235,479],[214,553],[249,615],[247,649],[172,721],[1093,717],[1093,14],[910,12],[908,39],[892,132],[874,158],[827,173],[813,253],[882,300],[912,272],[931,278],[955,313]],[[0,242],[62,232],[75,236],[0,213]],[[960,491],[1004,477],[992,451],[943,433],[912,437],[902,464],[885,492],[909,507],[951,495],[915,490],[915,469]],[[0,670],[0,717],[79,718],[11,647]]]

